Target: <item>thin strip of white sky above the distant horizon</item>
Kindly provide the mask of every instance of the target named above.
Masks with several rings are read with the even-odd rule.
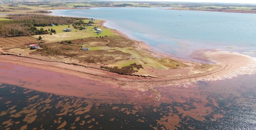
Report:
[[[127,1],[127,0],[125,0],[125,1]],[[182,1],[182,2],[251,3],[251,4],[256,4],[256,0],[134,0],[134,1]]]

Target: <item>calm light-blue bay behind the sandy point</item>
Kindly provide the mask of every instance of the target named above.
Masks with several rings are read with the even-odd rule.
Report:
[[[256,51],[256,14],[92,8],[54,10],[52,15],[106,20],[106,26],[181,58],[189,58],[198,49],[224,49],[250,56],[255,56]]]

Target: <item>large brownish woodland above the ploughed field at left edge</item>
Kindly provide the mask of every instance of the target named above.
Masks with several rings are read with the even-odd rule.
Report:
[[[31,36],[38,34],[48,34],[47,30],[37,29],[35,26],[50,26],[51,24],[73,24],[79,18],[72,17],[55,17],[36,14],[14,14],[8,17],[12,20],[0,21],[1,37],[19,37]],[[56,31],[51,31],[55,33]]]

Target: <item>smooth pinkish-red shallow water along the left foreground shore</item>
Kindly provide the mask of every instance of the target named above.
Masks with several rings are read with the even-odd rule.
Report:
[[[27,89],[57,95],[76,96],[89,99],[101,99],[108,103],[136,103],[135,92],[139,90],[123,90],[117,84],[99,82],[75,75],[56,73],[13,63],[0,63],[0,83],[17,85]],[[81,74],[82,75],[82,74]],[[86,75],[85,75],[86,76]],[[147,96],[141,94],[140,99]],[[130,100],[127,100],[130,99]]]

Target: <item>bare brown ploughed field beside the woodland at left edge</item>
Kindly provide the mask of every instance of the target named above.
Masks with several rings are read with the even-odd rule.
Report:
[[[25,44],[32,44],[38,42],[39,41],[31,37],[0,38],[0,47],[23,46]]]

